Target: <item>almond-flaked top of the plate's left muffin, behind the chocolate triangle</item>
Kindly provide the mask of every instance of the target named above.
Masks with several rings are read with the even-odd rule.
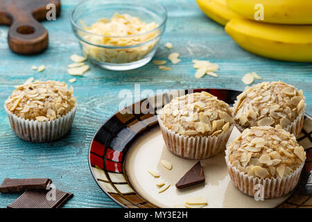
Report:
[[[190,137],[219,135],[234,122],[229,105],[207,92],[173,99],[164,106],[160,118],[166,128]]]

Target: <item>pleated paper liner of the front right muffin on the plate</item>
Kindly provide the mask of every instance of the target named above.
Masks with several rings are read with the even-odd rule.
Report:
[[[236,167],[232,167],[229,162],[228,152],[225,151],[225,162],[229,171],[229,176],[234,186],[242,191],[244,194],[254,197],[258,196],[259,190],[262,188],[263,198],[278,198],[291,192],[297,186],[299,182],[300,173],[304,167],[304,162],[297,167],[293,173],[283,176],[283,178],[257,178],[254,176],[248,176],[248,174],[239,171]],[[257,194],[256,194],[257,193]],[[260,192],[261,193],[261,192]]]

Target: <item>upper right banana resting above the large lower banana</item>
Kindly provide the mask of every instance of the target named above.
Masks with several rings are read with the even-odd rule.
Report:
[[[312,24],[311,0],[227,0],[227,6],[248,19],[254,19],[255,13],[262,8],[263,20],[260,22]]]

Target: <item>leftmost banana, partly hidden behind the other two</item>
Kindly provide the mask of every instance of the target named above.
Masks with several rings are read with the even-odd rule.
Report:
[[[199,8],[209,18],[225,26],[229,20],[241,17],[227,7],[226,0],[196,0]],[[312,1],[312,0],[311,0]]]

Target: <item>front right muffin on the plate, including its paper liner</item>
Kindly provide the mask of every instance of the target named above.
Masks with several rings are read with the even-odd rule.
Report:
[[[292,191],[306,153],[293,134],[277,125],[254,126],[227,145],[225,161],[235,187],[250,196],[262,185],[263,198]]]

